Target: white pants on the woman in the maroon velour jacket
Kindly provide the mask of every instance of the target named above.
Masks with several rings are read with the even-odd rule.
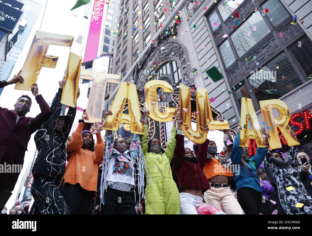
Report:
[[[202,204],[202,197],[182,192],[180,201],[180,215],[198,215],[196,208]]]

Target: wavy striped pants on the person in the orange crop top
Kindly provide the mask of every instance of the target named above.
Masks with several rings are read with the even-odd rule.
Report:
[[[244,214],[230,187],[211,187],[204,193],[204,199],[206,204],[224,211],[227,215]]]

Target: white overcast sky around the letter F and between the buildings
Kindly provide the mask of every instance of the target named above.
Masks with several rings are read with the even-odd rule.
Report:
[[[22,54],[19,60],[17,61],[9,79],[11,79],[13,75],[18,73],[19,70],[22,68],[24,61],[26,59],[28,50],[30,48],[32,39],[35,35],[35,32],[40,29],[42,17],[43,17],[43,20],[42,20],[41,31],[64,34],[64,35],[73,35],[75,36],[74,41],[76,40],[76,36],[81,34],[80,32],[83,32],[83,33],[85,32],[85,29],[87,26],[88,20],[83,18],[84,10],[85,10],[84,6],[78,7],[74,9],[73,11],[70,10],[75,5],[76,0],[66,0],[66,1],[65,0],[48,0],[47,5],[46,5],[46,0],[34,0],[34,1],[42,5],[42,11],[37,19],[35,26],[33,27],[33,30],[23,48]],[[46,5],[46,11],[43,16],[45,5]],[[74,12],[77,16],[75,17],[72,14],[72,12]],[[76,47],[73,48],[73,50],[75,50],[74,53],[79,54],[79,52],[77,52]],[[65,47],[65,46],[57,46],[57,45],[49,46],[47,55],[59,57],[58,62],[56,64],[56,68],[54,69],[44,68],[44,67],[41,68],[41,72],[37,81],[37,84],[39,87],[39,94],[42,94],[43,98],[47,102],[53,100],[53,97],[55,96],[55,93],[58,90],[58,81],[63,78],[70,51],[71,51],[70,48]],[[14,109],[13,106],[16,103],[17,98],[23,94],[27,94],[28,96],[30,96],[33,101],[32,107],[30,109],[30,112],[27,113],[27,116],[35,117],[37,114],[40,113],[40,109],[39,109],[38,104],[36,103],[35,97],[32,95],[30,91],[15,90],[14,85],[9,85],[4,88],[0,97],[0,106],[13,110]],[[77,106],[80,106],[80,104],[85,103],[82,100],[81,102],[79,102],[79,100],[81,100],[81,96],[77,100]],[[14,204],[17,191],[18,191],[19,185],[21,184],[22,176],[25,172],[25,169],[27,168],[29,163],[32,162],[33,160],[35,150],[36,150],[36,146],[34,142],[34,135],[35,133],[32,135],[28,143],[28,152],[25,153],[24,168],[22,169],[22,172],[18,178],[13,194],[6,204],[8,210],[10,210],[12,205]]]

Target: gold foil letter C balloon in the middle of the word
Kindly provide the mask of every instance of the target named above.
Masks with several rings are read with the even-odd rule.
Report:
[[[157,88],[161,88],[163,92],[173,92],[173,87],[163,80],[150,80],[145,84],[145,107],[149,110],[149,117],[159,122],[172,121],[171,118],[177,115],[177,108],[166,107],[165,112],[160,112],[158,107]]]

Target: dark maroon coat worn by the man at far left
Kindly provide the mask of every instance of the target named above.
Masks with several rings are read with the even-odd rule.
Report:
[[[2,82],[0,81],[0,87]],[[20,165],[24,163],[29,139],[40,125],[49,119],[51,109],[42,95],[36,97],[41,113],[35,118],[20,116],[16,124],[16,112],[0,107],[0,164]],[[12,168],[12,167],[11,167]],[[20,170],[21,171],[21,170]],[[0,173],[0,186],[14,189],[20,173]]]

